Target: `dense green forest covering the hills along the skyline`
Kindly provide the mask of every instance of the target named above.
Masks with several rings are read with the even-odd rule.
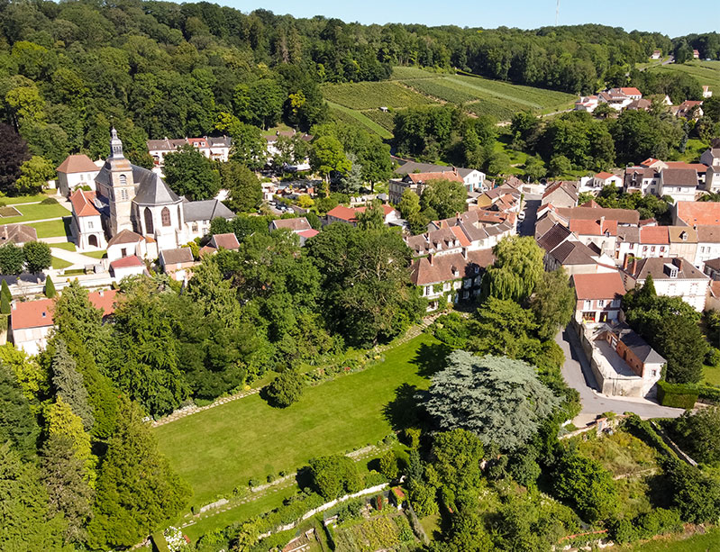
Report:
[[[320,83],[381,80],[394,65],[587,93],[654,49],[682,43],[720,57],[716,33],[673,42],[592,24],[360,25],[205,2],[9,2],[0,32],[3,119],[53,163],[80,150],[106,155],[111,123],[144,165],[148,138],[226,132],[253,144],[259,127],[280,121],[308,130],[327,118]]]

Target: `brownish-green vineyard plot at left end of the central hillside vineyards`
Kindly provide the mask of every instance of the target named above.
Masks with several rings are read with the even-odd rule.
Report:
[[[351,109],[377,109],[378,107],[409,107],[411,105],[433,104],[424,95],[391,81],[345,83],[324,85],[323,95],[334,104]]]

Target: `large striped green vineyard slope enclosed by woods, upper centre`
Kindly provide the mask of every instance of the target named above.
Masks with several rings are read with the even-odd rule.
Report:
[[[389,81],[327,84],[322,89],[337,118],[360,122],[383,138],[392,138],[393,113],[380,112],[380,107],[392,112],[417,105],[455,104],[470,114],[490,115],[502,122],[520,111],[552,113],[570,109],[577,99],[555,90],[414,67],[393,68]]]

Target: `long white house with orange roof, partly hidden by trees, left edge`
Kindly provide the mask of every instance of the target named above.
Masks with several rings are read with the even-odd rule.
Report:
[[[102,309],[103,317],[114,312],[116,290],[90,292],[90,303]],[[37,355],[45,348],[54,327],[52,312],[54,299],[14,301],[10,312],[8,340],[28,355]]]

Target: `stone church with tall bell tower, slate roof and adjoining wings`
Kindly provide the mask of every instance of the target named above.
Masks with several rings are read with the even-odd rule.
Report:
[[[157,258],[162,250],[205,236],[214,218],[235,216],[216,199],[187,201],[156,173],[132,165],[115,129],[110,157],[93,184],[95,190],[70,195],[70,230],[78,250],[107,249],[110,261],[131,255]]]

